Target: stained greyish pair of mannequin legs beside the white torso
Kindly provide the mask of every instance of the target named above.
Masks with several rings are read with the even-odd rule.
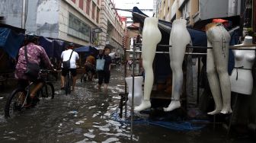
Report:
[[[230,35],[222,24],[207,24],[206,30],[207,46],[213,46],[213,49],[207,49],[206,71],[216,105],[215,110],[208,114],[232,113],[228,74]]]

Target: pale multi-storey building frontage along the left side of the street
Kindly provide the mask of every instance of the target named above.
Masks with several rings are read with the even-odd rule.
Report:
[[[114,12],[110,16],[105,11],[110,10],[110,5],[105,5],[110,2],[109,0],[24,0],[24,2],[27,8],[24,24],[26,33],[81,46],[120,46],[122,43],[123,30],[119,17]],[[0,4],[0,16],[5,17],[5,24],[21,27],[23,1],[2,0]],[[109,22],[105,25],[104,21]],[[108,25],[110,28],[107,28]],[[102,35],[104,38],[100,37]]]

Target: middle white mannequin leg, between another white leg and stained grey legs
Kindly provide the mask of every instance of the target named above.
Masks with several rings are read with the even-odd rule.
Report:
[[[171,27],[169,55],[172,71],[172,91],[171,103],[167,108],[164,108],[166,112],[181,106],[180,95],[183,84],[182,62],[184,60],[186,46],[190,43],[190,34],[187,31],[186,24],[186,20],[178,19],[172,23]]]

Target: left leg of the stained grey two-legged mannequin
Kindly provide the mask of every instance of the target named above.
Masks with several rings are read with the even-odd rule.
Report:
[[[208,46],[210,45],[208,44]],[[213,110],[208,114],[214,115],[214,114],[220,113],[220,111],[222,110],[222,98],[220,93],[219,78],[217,76],[215,63],[214,63],[213,49],[207,49],[206,72],[207,72],[207,78],[210,84],[210,90],[213,94],[213,100],[215,103],[215,110]]]

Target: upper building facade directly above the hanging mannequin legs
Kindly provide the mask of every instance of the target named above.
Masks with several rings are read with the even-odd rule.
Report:
[[[157,17],[174,21],[183,17],[189,25],[216,17],[240,15],[241,0],[158,0]]]

